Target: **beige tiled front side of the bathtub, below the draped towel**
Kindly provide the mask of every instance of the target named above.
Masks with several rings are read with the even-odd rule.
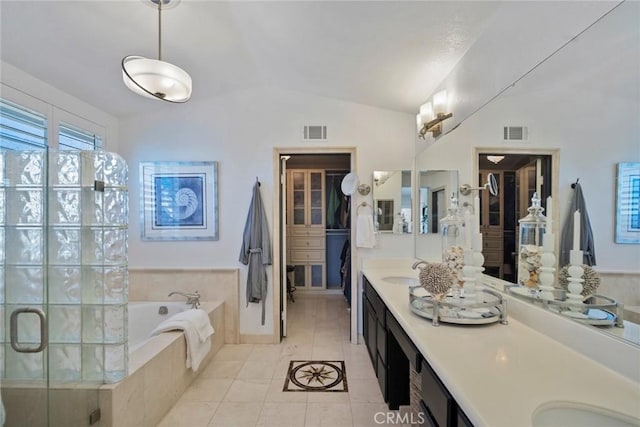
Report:
[[[209,312],[215,333],[211,351],[198,371],[185,366],[182,332],[164,332],[150,338],[129,355],[129,376],[100,388],[100,427],[155,427],[162,420],[224,345],[224,303],[204,301],[201,308]]]

